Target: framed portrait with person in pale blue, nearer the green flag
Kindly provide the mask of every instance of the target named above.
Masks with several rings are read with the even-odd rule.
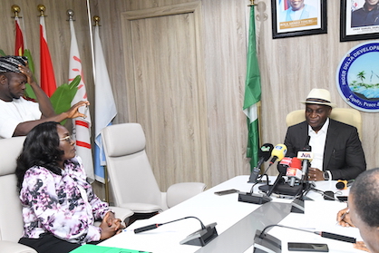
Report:
[[[326,34],[326,0],[271,0],[272,37]]]

